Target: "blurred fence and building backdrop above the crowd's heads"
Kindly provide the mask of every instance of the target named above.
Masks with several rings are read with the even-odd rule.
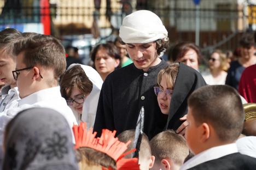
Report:
[[[193,41],[205,54],[233,51],[256,29],[256,0],[0,0],[0,29],[55,35],[86,63],[91,47],[114,40],[124,16],[139,9],[160,16],[171,44]]]

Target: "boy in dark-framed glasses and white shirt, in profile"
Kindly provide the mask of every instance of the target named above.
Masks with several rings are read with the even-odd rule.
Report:
[[[13,71],[19,96],[18,106],[0,116],[0,138],[5,125],[18,112],[32,107],[45,107],[62,114],[70,128],[77,124],[72,110],[61,97],[58,81],[66,69],[65,49],[50,35],[25,33],[26,37],[14,44],[16,70]]]

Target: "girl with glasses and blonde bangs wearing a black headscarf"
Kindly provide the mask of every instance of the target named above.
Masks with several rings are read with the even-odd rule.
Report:
[[[161,117],[166,117],[167,123],[162,125],[163,129],[156,129],[156,133],[173,129],[184,135],[185,127],[188,126],[185,121],[188,113],[187,99],[194,90],[205,85],[201,74],[183,63],[172,63],[160,70],[154,90]]]

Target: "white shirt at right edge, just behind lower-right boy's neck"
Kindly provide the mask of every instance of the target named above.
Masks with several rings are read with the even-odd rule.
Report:
[[[243,155],[256,158],[256,136],[245,136],[236,141],[238,151]]]

